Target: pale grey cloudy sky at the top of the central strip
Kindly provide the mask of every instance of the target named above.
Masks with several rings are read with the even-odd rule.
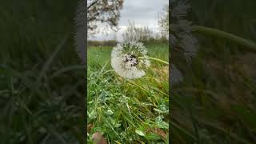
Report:
[[[119,20],[120,30],[95,34],[95,38],[89,40],[110,40],[116,37],[118,41],[122,41],[122,32],[126,30],[129,21],[134,22],[136,26],[149,26],[151,30],[158,32],[158,14],[168,2],[169,0],[125,0]]]

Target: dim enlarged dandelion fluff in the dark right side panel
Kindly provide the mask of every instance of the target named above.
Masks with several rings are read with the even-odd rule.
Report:
[[[193,22],[187,20],[190,4],[187,0],[172,1],[170,3],[170,43],[183,52],[186,61],[198,52],[198,39],[193,35]],[[174,64],[170,66],[170,83],[175,84],[183,80],[182,73]]]

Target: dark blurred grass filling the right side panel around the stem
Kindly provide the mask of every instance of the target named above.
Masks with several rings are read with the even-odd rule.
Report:
[[[256,42],[253,0],[190,1],[190,19]],[[248,47],[216,35],[198,36],[198,54],[190,64],[172,48],[171,62],[184,81],[171,86],[171,142],[255,143],[256,61]]]

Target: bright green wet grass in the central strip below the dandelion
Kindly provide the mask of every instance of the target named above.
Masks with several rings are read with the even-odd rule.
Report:
[[[149,56],[168,62],[169,46],[146,46]],[[169,66],[152,62],[146,76],[124,79],[110,66],[112,47],[89,47],[88,142],[101,132],[110,143],[166,142],[169,133]]]

